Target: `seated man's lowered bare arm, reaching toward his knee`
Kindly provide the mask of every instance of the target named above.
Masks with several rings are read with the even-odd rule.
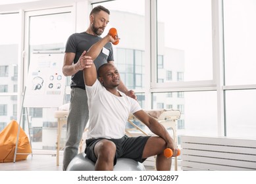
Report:
[[[159,124],[159,122],[157,120],[155,120],[155,118],[149,116],[149,114],[147,114],[144,110],[139,110],[139,111],[135,112],[134,116],[136,116],[136,118],[138,118],[138,120],[143,122],[143,124],[145,124],[145,126],[149,127],[149,129],[153,133],[155,133],[155,135],[162,137],[165,140],[168,148],[170,148],[172,150],[176,149],[176,147],[174,146],[173,140],[170,137],[168,131],[165,129],[165,127],[163,125]]]

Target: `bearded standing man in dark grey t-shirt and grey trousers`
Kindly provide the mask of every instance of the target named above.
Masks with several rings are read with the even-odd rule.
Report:
[[[67,141],[64,147],[63,170],[66,170],[69,162],[78,154],[78,146],[82,133],[89,119],[88,98],[84,85],[83,70],[92,64],[91,57],[80,58],[84,51],[88,51],[91,45],[102,39],[107,24],[109,23],[109,10],[103,6],[95,7],[90,13],[90,26],[86,32],[70,35],[66,43],[66,50],[63,63],[64,76],[71,78],[70,108],[67,120]],[[107,43],[99,56],[95,59],[95,66],[107,62],[113,64],[113,47]],[[134,91],[128,89],[121,82],[120,91],[136,99]]]

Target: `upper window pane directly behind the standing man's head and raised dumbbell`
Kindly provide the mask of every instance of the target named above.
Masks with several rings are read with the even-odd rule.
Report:
[[[95,3],[109,11],[110,22],[103,33],[115,27],[120,42],[114,45],[115,65],[128,89],[145,88],[145,3],[138,0]]]

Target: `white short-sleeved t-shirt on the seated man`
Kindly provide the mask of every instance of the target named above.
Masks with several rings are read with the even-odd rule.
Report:
[[[110,93],[96,80],[92,86],[86,85],[89,106],[88,138],[104,137],[120,139],[124,136],[126,122],[130,113],[141,110],[140,104],[120,92],[122,97]]]

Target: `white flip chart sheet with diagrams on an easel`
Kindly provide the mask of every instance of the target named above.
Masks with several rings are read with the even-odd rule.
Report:
[[[65,77],[62,72],[64,53],[32,53],[24,107],[59,107],[63,104]]]

